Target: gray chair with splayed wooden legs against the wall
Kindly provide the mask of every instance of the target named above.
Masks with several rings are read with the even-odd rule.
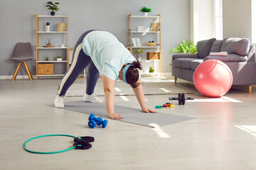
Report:
[[[29,72],[28,65],[26,64],[27,61],[33,59],[33,51],[32,51],[30,42],[18,42],[15,47],[15,50],[14,50],[14,55],[13,55],[13,57],[11,57],[11,59],[18,62],[18,66],[16,68],[16,71],[14,72],[14,76],[11,79],[11,81],[14,81],[14,79],[16,79],[18,70],[21,67],[21,63],[23,63],[23,65],[26,69],[28,78],[30,80],[33,79],[31,76],[31,72]]]

